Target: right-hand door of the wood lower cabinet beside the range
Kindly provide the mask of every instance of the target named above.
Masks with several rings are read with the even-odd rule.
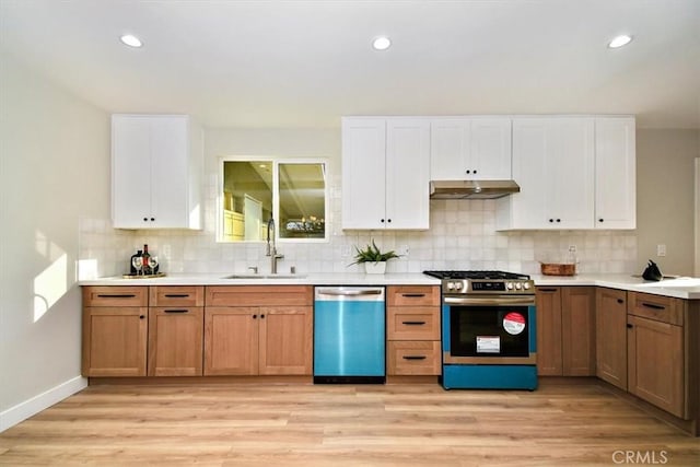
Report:
[[[595,375],[595,291],[561,289],[561,348],[564,376]]]

